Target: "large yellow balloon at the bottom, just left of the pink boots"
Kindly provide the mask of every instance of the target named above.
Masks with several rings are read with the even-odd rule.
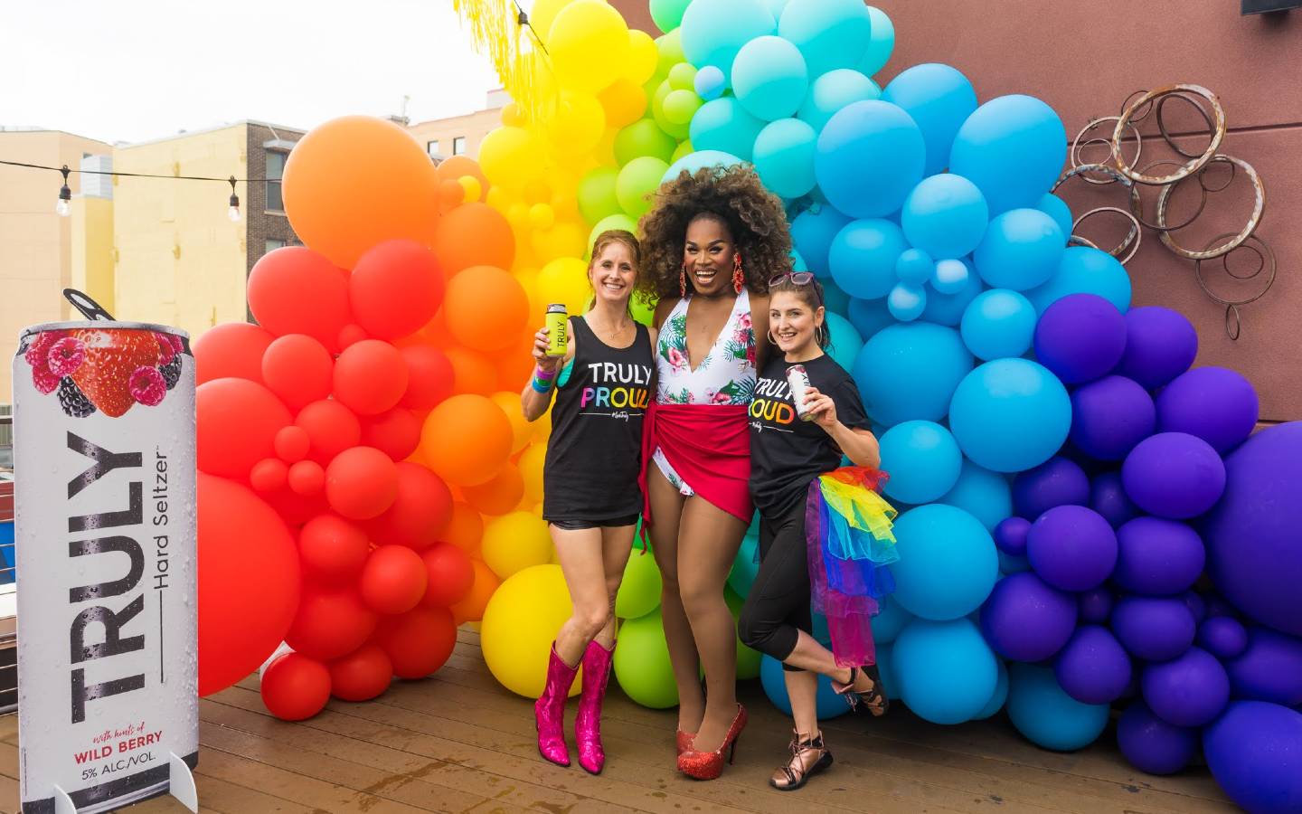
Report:
[[[488,600],[479,629],[488,672],[525,698],[542,695],[552,641],[573,608],[560,565],[535,565],[503,582]],[[575,676],[569,694],[578,694],[582,686]]]

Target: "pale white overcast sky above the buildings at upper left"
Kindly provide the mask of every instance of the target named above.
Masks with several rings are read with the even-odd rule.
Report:
[[[309,129],[400,113],[404,95],[414,122],[482,109],[496,86],[450,0],[0,0],[4,126]]]

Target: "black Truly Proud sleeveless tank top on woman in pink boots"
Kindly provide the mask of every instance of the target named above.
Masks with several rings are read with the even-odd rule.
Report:
[[[642,417],[651,393],[651,339],[611,348],[570,318],[574,362],[557,386],[543,466],[543,518],[613,520],[642,511]]]

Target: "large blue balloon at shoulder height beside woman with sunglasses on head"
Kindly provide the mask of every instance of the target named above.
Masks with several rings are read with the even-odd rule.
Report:
[[[853,374],[868,417],[891,426],[944,418],[971,367],[958,331],[915,322],[891,326],[866,341]]]

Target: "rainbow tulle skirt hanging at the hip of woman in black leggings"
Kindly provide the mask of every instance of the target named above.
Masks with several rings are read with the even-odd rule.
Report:
[[[887,565],[900,559],[896,511],[878,494],[885,479],[876,469],[844,466],[810,482],[805,503],[810,596],[827,616],[840,667],[876,662],[871,620],[894,590]]]

